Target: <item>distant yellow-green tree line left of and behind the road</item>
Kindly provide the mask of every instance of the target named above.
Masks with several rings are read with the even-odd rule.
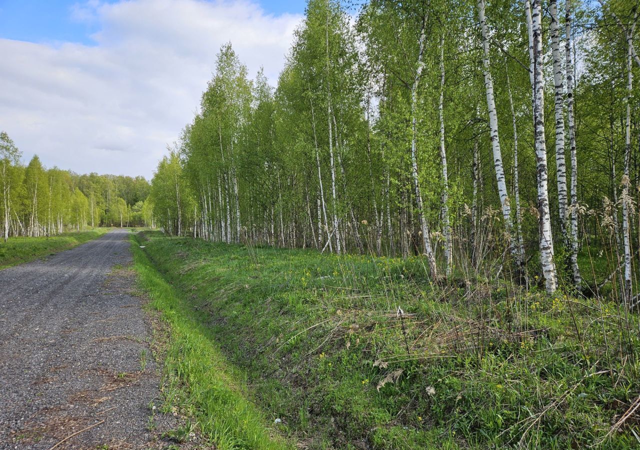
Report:
[[[0,133],[0,229],[10,236],[54,236],[88,227],[150,226],[144,177],[77,175],[45,168],[38,156],[27,165],[4,131]]]

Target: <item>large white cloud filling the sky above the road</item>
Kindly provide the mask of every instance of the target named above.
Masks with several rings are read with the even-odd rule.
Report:
[[[301,19],[202,0],[92,0],[70,14],[97,21],[96,45],[0,39],[0,129],[47,166],[146,177],[193,118],[220,45],[275,83]]]

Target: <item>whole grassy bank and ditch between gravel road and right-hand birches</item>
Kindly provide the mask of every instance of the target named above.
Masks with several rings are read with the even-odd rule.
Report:
[[[236,419],[250,398],[308,448],[638,445],[637,415],[610,432],[640,391],[637,317],[614,303],[435,286],[419,259],[138,239],[143,285],[172,324],[170,383],[214,440],[260,447]],[[264,435],[264,414],[244,417]]]

